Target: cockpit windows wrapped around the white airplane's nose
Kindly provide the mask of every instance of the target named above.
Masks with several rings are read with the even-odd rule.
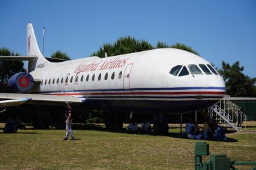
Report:
[[[197,65],[188,65],[188,67],[192,75],[203,75],[203,73],[205,73],[205,75],[218,75],[217,71],[214,70],[214,68],[211,65],[199,64],[199,67],[201,68],[203,73],[201,72]],[[189,71],[187,70],[186,66],[177,65],[170,70],[170,74],[174,76],[179,75],[179,77],[181,77],[189,75]]]

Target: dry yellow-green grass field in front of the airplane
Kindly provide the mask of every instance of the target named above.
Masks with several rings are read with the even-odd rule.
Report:
[[[0,130],[0,169],[194,169],[198,140],[189,140],[172,127],[169,136],[146,136],[93,125],[74,129],[74,141],[62,140],[65,130],[19,130],[16,134]],[[249,130],[255,127],[256,122],[247,124]],[[255,131],[226,136],[228,142],[207,141],[210,153],[256,161]]]

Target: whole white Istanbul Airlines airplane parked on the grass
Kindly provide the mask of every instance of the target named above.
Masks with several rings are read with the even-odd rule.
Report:
[[[226,94],[222,76],[210,62],[175,48],[50,62],[42,56],[31,23],[27,26],[28,73],[8,80],[12,93],[0,99],[28,104],[83,105],[86,109],[146,114],[177,114],[208,108]]]

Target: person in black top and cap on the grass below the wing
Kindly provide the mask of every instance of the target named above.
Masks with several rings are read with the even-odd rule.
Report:
[[[73,121],[73,110],[71,108],[71,102],[67,101],[67,110],[66,110],[66,114],[65,114],[65,118],[66,118],[66,136],[63,140],[67,140],[69,138],[69,133],[71,136],[71,140],[75,140],[74,136],[73,136],[73,131],[71,128],[71,124]]]

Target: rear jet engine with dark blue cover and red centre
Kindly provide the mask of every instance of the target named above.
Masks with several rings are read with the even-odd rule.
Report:
[[[11,76],[7,85],[12,93],[28,93],[34,85],[34,79],[29,73],[20,72]]]

